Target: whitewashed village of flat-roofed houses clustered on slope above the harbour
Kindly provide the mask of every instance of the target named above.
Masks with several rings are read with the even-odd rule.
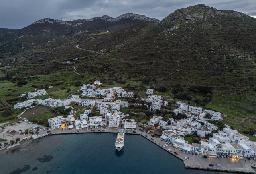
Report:
[[[174,118],[163,119],[163,117],[155,115],[148,123],[137,123],[135,119],[128,118],[130,113],[120,112],[120,108],[128,108],[131,103],[122,101],[118,97],[134,98],[133,92],[126,92],[122,87],[112,88],[97,88],[95,85],[100,85],[100,81],[96,80],[94,84],[83,84],[79,91],[81,95],[72,95],[67,99],[48,98],[33,99],[33,97],[48,95],[44,89],[35,92],[28,92],[28,100],[18,102],[14,105],[15,109],[26,109],[38,105],[48,106],[51,108],[64,107],[65,110],[70,110],[67,117],[56,115],[53,118],[48,118],[49,126],[52,129],[61,128],[63,130],[82,130],[88,128],[118,128],[124,126],[126,130],[134,130],[136,125],[144,128],[147,132],[152,132],[152,135],[159,137],[161,141],[172,144],[184,152],[197,152],[209,157],[219,157],[221,155],[233,155],[236,158],[253,157],[256,155],[256,142],[252,142],[248,137],[233,130],[230,126],[225,125],[220,130],[209,120],[221,120],[222,114],[212,110],[203,110],[201,107],[189,106],[187,102],[176,101],[175,105],[179,108],[174,109],[171,116],[179,116],[180,120]],[[23,96],[26,94],[22,94]],[[169,103],[159,95],[154,95],[153,89],[146,91],[147,98],[141,98],[141,101],[151,103],[144,104],[146,109],[151,111],[161,111],[161,106],[167,106]],[[90,99],[83,99],[89,97]],[[102,99],[98,99],[102,97]],[[94,99],[95,98],[95,99]],[[75,103],[81,107],[87,108],[80,119],[75,119],[74,115],[77,111],[70,106]],[[142,105],[142,104],[139,104]],[[97,116],[91,116],[92,110],[96,110]],[[22,115],[20,116],[22,118]],[[189,143],[185,137],[196,135],[196,143]],[[194,136],[195,137],[195,136]],[[197,138],[198,137],[198,138]]]

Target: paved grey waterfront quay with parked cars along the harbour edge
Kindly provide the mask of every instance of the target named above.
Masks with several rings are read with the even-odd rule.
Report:
[[[123,128],[123,127],[122,127]],[[118,128],[120,129],[120,127]],[[103,129],[101,127],[98,128],[88,128],[85,130],[61,130],[61,129],[54,129],[52,130],[53,135],[58,134],[76,134],[76,133],[117,133],[118,129],[113,128],[106,128],[106,131],[102,131]],[[158,148],[162,148],[163,150],[167,151],[168,153],[171,153],[175,157],[177,157],[180,160],[183,160],[185,168],[195,168],[195,169],[202,169],[202,170],[217,170],[217,171],[226,171],[226,172],[240,172],[240,173],[255,173],[255,171],[251,168],[255,166],[254,160],[248,160],[246,158],[244,159],[227,159],[227,158],[202,158],[201,155],[192,155],[189,153],[183,153],[182,151],[179,151],[176,148],[173,148],[172,146],[168,145],[167,147],[162,147],[162,145],[165,144],[164,141],[161,141],[159,138],[152,137],[150,134],[146,133],[146,131],[142,132],[138,130],[138,125],[135,129],[136,133],[133,133],[133,131],[125,130],[126,134],[134,134],[134,135],[141,135],[142,137],[148,139],[150,141],[149,143],[154,143],[158,145]],[[92,131],[95,130],[95,131]],[[98,131],[100,130],[100,131]],[[40,130],[39,135],[43,135],[47,133],[46,131]],[[145,135],[148,135],[146,137]],[[26,136],[26,135],[24,135]],[[154,139],[154,141],[151,140],[151,138]],[[114,146],[114,142],[113,142]],[[125,143],[124,143],[125,146]],[[156,147],[157,148],[157,147]],[[168,149],[171,149],[172,152],[169,152]],[[175,155],[174,152],[179,153],[179,155]],[[185,157],[189,157],[188,160],[185,160]],[[209,166],[209,164],[221,164],[221,167],[217,166]]]

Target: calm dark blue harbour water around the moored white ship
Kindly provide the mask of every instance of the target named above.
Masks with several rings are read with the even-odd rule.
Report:
[[[116,135],[51,135],[35,140],[28,149],[0,155],[0,174],[226,174],[185,169],[181,160],[139,135],[125,135],[124,149],[118,152]],[[47,156],[50,161],[44,161],[45,155],[53,159]]]

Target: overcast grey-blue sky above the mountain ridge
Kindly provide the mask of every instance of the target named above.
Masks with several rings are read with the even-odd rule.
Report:
[[[256,18],[256,0],[1,0],[0,28],[20,29],[43,19],[72,21],[135,13],[162,20],[179,8],[205,4]]]

